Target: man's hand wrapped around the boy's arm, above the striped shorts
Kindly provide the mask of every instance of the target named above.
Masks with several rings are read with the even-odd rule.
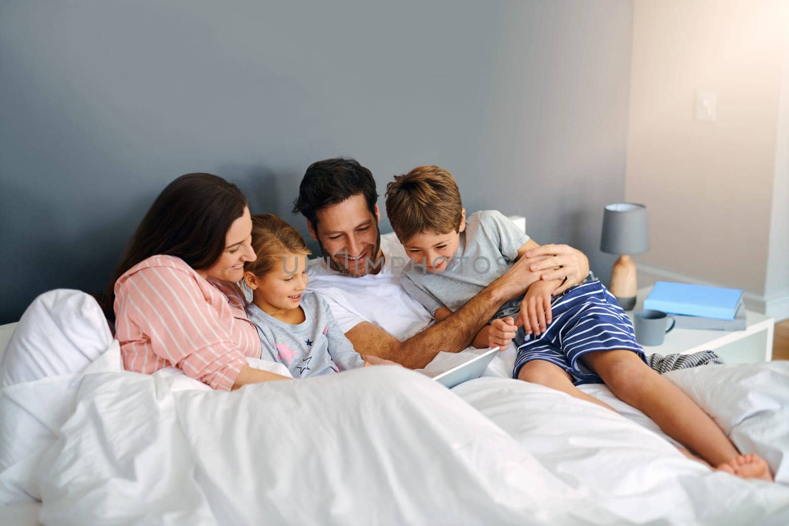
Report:
[[[544,258],[544,256],[549,257]],[[558,279],[559,282],[563,282],[553,291],[554,296],[558,296],[573,285],[578,285],[589,275],[589,259],[583,252],[567,244],[544,244],[529,250],[525,253],[525,258],[521,259],[528,263],[529,270],[542,273],[540,279],[544,281]]]

